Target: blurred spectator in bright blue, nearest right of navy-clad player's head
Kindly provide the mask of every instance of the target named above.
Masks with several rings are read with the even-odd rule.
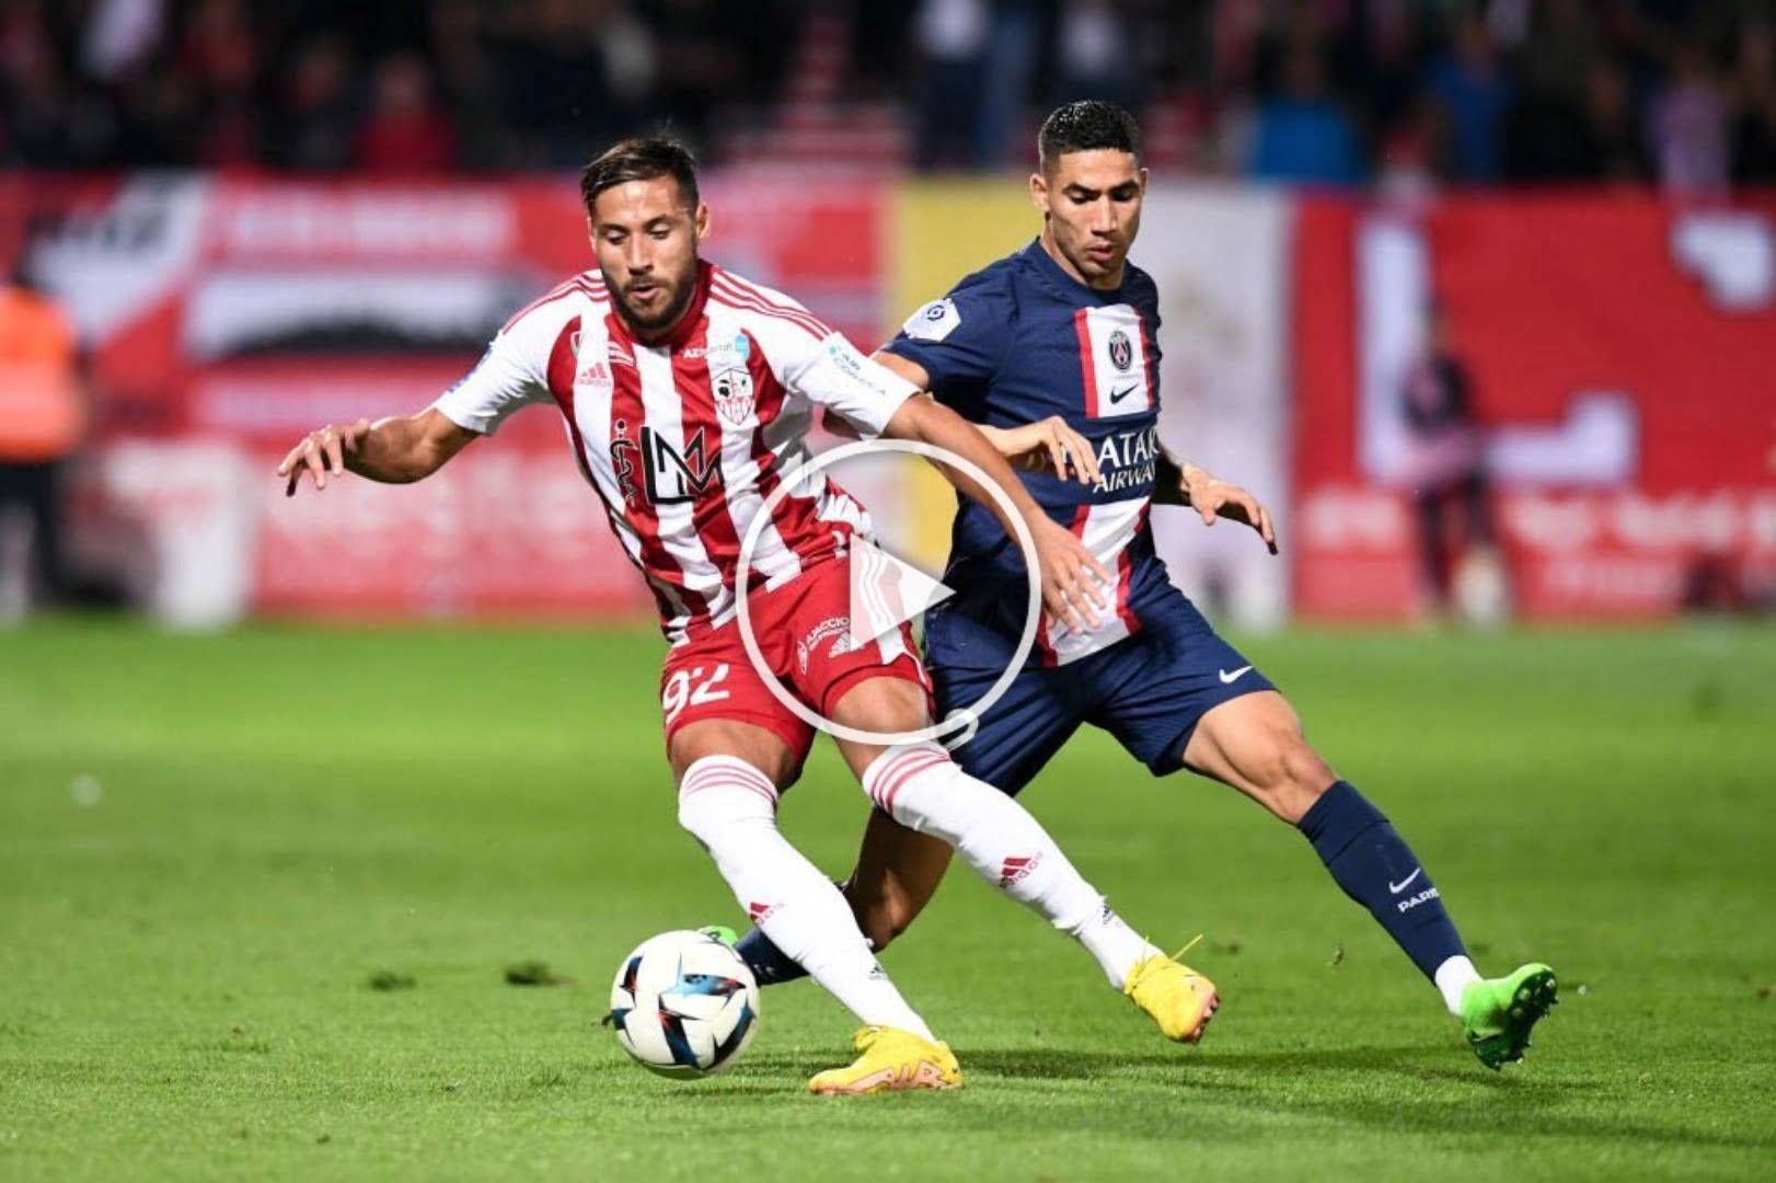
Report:
[[[1257,108],[1252,174],[1266,181],[1355,185],[1362,176],[1357,135],[1327,96],[1325,64],[1311,41],[1295,41],[1282,60],[1280,91]]]

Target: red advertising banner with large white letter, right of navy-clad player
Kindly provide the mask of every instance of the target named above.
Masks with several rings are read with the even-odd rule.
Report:
[[[1776,195],[1304,199],[1295,291],[1304,615],[1423,607],[1415,492],[1474,469],[1518,615],[1634,618],[1771,586]],[[1451,384],[1472,414],[1439,423]]]

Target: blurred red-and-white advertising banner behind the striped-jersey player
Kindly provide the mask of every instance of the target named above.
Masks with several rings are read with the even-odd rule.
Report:
[[[879,179],[728,174],[703,195],[710,258],[874,346],[886,295]],[[547,412],[412,488],[343,481],[286,501],[272,478],[313,426],[428,405],[515,309],[591,266],[572,178],[11,178],[0,261],[20,252],[91,350],[99,451],[202,442],[263,474],[245,494],[258,512],[243,607],[650,611]]]

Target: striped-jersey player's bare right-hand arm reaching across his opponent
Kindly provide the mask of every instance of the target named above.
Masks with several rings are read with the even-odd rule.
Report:
[[[970,460],[986,472],[987,480],[998,485],[1000,492],[1011,499],[1018,517],[1028,526],[1032,542],[1035,542],[1037,567],[1043,576],[1043,606],[1048,607],[1051,616],[1066,622],[1074,631],[1085,631],[1099,623],[1098,609],[1108,607],[1105,588],[1114,586],[1110,572],[1085,549],[1085,544],[1073,531],[1058,526],[1043,512],[1043,506],[1035,504],[1023,481],[1011,471],[1005,457],[987,442],[980,428],[931,398],[931,394],[920,393],[900,403],[893,417],[888,419],[888,426],[883,428],[883,435],[890,439],[913,439],[943,448],[963,460]],[[968,472],[952,469],[947,464],[940,464],[938,471],[959,490],[991,510],[993,517],[1005,528],[1005,533],[1016,536],[1012,520],[1005,515],[1003,506],[998,504],[998,497],[987,492],[986,487]]]

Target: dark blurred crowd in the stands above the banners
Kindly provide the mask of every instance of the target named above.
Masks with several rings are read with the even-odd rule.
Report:
[[[0,0],[11,169],[987,169],[1082,96],[1167,171],[1707,192],[1776,181],[1776,0]]]

